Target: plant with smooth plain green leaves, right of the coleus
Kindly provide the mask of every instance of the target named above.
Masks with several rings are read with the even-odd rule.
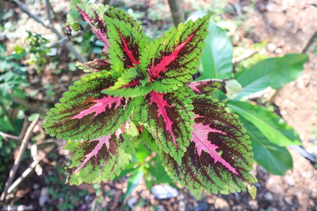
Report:
[[[267,172],[284,175],[293,167],[291,154],[286,147],[301,145],[299,135],[280,116],[248,99],[266,88],[278,90],[295,80],[303,70],[307,55],[287,54],[284,57],[268,58],[233,74],[229,36],[214,23],[209,24],[208,30],[199,69],[202,76],[192,82],[190,87],[196,94],[204,93],[219,99],[239,114],[250,137],[254,159]],[[218,80],[215,82],[210,78]],[[202,79],[205,80],[198,81]]]

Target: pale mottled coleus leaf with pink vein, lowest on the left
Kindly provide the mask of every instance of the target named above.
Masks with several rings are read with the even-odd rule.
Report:
[[[126,122],[115,133],[91,141],[68,140],[63,149],[73,153],[69,184],[100,183],[119,175],[135,153],[138,134],[136,126]]]

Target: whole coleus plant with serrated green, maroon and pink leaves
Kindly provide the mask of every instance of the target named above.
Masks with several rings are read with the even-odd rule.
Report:
[[[51,136],[67,139],[69,184],[112,180],[140,142],[190,190],[226,194],[257,181],[237,115],[187,86],[200,64],[210,14],[155,40],[113,7],[73,1],[67,18],[74,30],[90,24],[105,45],[101,59],[77,63],[90,73],[64,93],[43,124]],[[144,140],[144,133],[151,137]]]

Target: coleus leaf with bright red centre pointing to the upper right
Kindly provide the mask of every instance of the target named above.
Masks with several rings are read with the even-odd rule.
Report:
[[[180,23],[145,48],[141,67],[147,71],[154,91],[171,92],[191,80],[205,47],[209,18],[210,14],[194,23]]]

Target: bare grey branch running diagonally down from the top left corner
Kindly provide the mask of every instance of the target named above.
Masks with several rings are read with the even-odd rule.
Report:
[[[23,11],[24,13],[26,13],[28,16],[30,16],[31,18],[33,18],[35,21],[37,21],[38,23],[41,23],[44,27],[47,27],[49,29],[51,29],[59,39],[62,39],[64,36],[59,33],[59,31],[53,26],[52,23],[46,24],[44,21],[42,21],[39,17],[37,17],[36,15],[32,14],[30,12],[30,10],[27,8],[27,6],[25,5],[25,3],[20,2],[19,0],[11,0],[12,2],[14,2],[21,11]],[[49,12],[49,9],[47,10],[47,12]],[[50,13],[48,14],[50,15]],[[78,52],[74,49],[74,47],[70,44],[70,43],[66,43],[66,48],[75,55],[75,57],[77,58],[78,61],[85,63],[87,62],[87,60],[82,57],[80,54],[78,54]]]

